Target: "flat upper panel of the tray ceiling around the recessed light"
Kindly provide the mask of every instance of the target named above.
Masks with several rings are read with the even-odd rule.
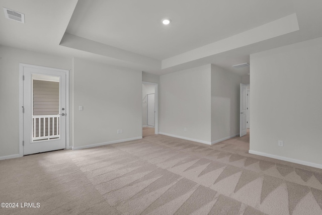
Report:
[[[291,0],[79,0],[66,33],[163,60],[293,13]]]

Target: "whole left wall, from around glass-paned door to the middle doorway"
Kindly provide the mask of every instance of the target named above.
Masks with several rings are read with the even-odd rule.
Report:
[[[109,67],[71,57],[58,57],[6,46],[0,46],[0,57],[0,159],[19,154],[19,111],[21,111],[19,63],[70,70],[69,141],[71,146],[73,142],[74,147],[80,147],[142,136],[141,71]],[[77,69],[75,76],[74,67]],[[74,84],[77,90],[75,93]],[[102,85],[99,86],[99,84]],[[98,101],[98,96],[104,96],[106,99]],[[74,105],[73,101],[77,103]],[[84,105],[83,112],[78,111],[80,104]],[[74,109],[77,110],[75,114],[73,114]],[[106,113],[111,113],[110,115],[113,116]],[[73,116],[76,117],[75,120]],[[85,124],[82,117],[85,119]],[[88,126],[90,123],[94,126]],[[73,125],[77,125],[75,129]],[[123,129],[123,134],[116,134],[117,129]],[[76,133],[73,134],[73,131]],[[75,141],[73,136],[76,137]]]

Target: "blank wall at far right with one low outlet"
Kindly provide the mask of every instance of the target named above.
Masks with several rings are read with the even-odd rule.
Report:
[[[251,55],[251,153],[322,168],[321,59],[322,38]]]

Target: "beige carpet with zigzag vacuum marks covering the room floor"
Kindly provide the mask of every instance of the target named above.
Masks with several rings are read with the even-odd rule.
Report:
[[[86,150],[0,161],[0,214],[322,214],[322,170],[149,135]]]

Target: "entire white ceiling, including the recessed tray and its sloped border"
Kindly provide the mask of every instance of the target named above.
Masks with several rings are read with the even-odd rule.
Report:
[[[2,0],[0,44],[163,75],[322,36],[320,0]],[[162,19],[170,18],[165,26]]]

